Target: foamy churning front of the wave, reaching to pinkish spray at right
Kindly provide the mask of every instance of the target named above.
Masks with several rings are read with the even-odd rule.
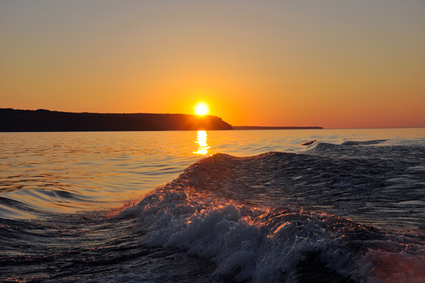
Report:
[[[251,206],[228,196],[230,190],[243,192],[227,177],[215,179],[212,189],[202,187],[212,182],[201,174],[203,165],[226,158],[237,160],[202,160],[174,182],[130,201],[118,218],[140,218],[143,245],[179,248],[215,262],[211,276],[219,280],[288,282],[300,262],[314,255],[322,269],[355,282],[425,282],[423,235],[384,233],[325,213]]]

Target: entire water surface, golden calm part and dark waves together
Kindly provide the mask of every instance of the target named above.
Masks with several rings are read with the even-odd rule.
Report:
[[[0,133],[0,166],[5,282],[425,282],[424,128]]]

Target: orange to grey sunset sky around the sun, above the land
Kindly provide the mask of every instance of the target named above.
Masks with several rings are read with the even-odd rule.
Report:
[[[425,1],[0,0],[0,108],[425,127]]]

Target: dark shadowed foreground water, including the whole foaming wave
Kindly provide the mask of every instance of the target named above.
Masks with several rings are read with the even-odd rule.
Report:
[[[2,197],[33,219],[0,218],[0,279],[424,282],[424,168],[421,143],[319,141],[205,157],[111,209],[56,213]]]

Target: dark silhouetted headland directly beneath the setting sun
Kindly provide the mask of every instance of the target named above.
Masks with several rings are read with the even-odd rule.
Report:
[[[232,130],[217,116],[0,109],[0,132]]]

